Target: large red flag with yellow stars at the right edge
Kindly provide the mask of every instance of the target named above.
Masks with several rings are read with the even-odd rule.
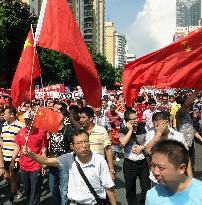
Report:
[[[202,28],[124,67],[123,94],[131,107],[142,86],[202,89]]]

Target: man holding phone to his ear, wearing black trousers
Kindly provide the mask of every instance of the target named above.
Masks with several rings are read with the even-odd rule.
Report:
[[[120,143],[124,146],[123,175],[125,179],[128,205],[144,204],[146,192],[150,189],[149,166],[145,159],[144,142],[146,130],[138,125],[134,110],[124,113],[125,126],[120,129]],[[142,189],[140,203],[137,202],[136,179],[140,180]]]

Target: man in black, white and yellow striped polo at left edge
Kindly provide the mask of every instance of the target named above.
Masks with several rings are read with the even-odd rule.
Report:
[[[24,127],[24,123],[19,122],[16,118],[16,109],[15,107],[8,107],[4,111],[5,123],[2,127],[1,139],[3,140],[2,152],[3,152],[3,161],[5,174],[4,178],[8,183],[10,183],[11,195],[7,204],[12,204],[14,197],[17,193],[17,172],[19,171],[19,158],[16,159],[17,164],[12,172],[9,171],[9,165],[12,160],[13,150],[15,148],[15,137],[18,131]]]

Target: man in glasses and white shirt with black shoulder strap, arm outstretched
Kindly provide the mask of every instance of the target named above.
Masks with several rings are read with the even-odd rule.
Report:
[[[111,179],[108,165],[99,154],[90,151],[89,135],[84,130],[75,129],[69,137],[73,153],[67,153],[57,158],[47,158],[32,153],[24,147],[23,153],[40,164],[69,169],[68,198],[70,204],[95,205],[96,200],[81,177],[75,160],[101,199],[106,199],[106,193],[112,205],[116,205],[114,182]]]

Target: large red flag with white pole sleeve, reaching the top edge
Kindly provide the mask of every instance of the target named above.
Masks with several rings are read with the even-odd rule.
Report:
[[[67,0],[43,1],[36,41],[38,46],[59,51],[72,59],[87,103],[99,106],[101,83]]]

